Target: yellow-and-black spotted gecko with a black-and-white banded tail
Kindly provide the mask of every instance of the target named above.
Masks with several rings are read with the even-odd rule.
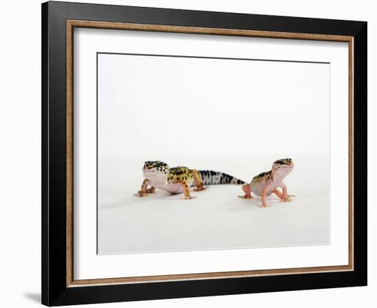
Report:
[[[244,181],[236,179],[223,172],[195,170],[186,167],[169,168],[165,162],[145,162],[143,166],[145,180],[141,190],[135,196],[148,196],[154,193],[156,188],[165,190],[171,194],[184,193],[183,199],[195,198],[190,195],[189,187],[195,185],[196,192],[206,190],[205,185],[217,184],[244,184]],[[148,188],[148,185],[151,187]]]

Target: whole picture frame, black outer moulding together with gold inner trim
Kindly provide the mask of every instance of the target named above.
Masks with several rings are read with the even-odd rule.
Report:
[[[101,279],[74,277],[73,29],[348,44],[348,265]],[[345,107],[345,108],[346,108]],[[367,285],[367,23],[42,3],[42,304],[79,305]],[[335,201],[336,202],[336,201]]]

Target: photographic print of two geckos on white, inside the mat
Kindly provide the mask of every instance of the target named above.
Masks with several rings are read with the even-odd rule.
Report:
[[[97,53],[97,253],[330,244],[330,63]]]

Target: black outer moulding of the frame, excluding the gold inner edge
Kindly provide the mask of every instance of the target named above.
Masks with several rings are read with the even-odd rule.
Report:
[[[354,270],[66,286],[66,20],[354,37]],[[42,3],[42,304],[218,296],[367,285],[367,23],[88,3]]]

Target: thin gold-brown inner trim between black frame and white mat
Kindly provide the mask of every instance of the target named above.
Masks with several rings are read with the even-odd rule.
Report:
[[[243,270],[233,272],[206,272],[197,274],[169,274],[144,277],[119,277],[75,280],[73,277],[73,29],[123,29],[134,31],[159,31],[184,34],[212,34],[222,36],[250,36],[259,38],[286,38],[295,40],[324,40],[348,42],[348,265],[307,268],[278,268],[271,270]],[[354,270],[354,37],[327,34],[305,34],[243,29],[181,27],[136,23],[108,23],[101,21],[66,21],[66,286],[107,285],[114,283],[147,283],[198,279],[267,276],[276,274],[306,274],[315,272],[341,272]]]

